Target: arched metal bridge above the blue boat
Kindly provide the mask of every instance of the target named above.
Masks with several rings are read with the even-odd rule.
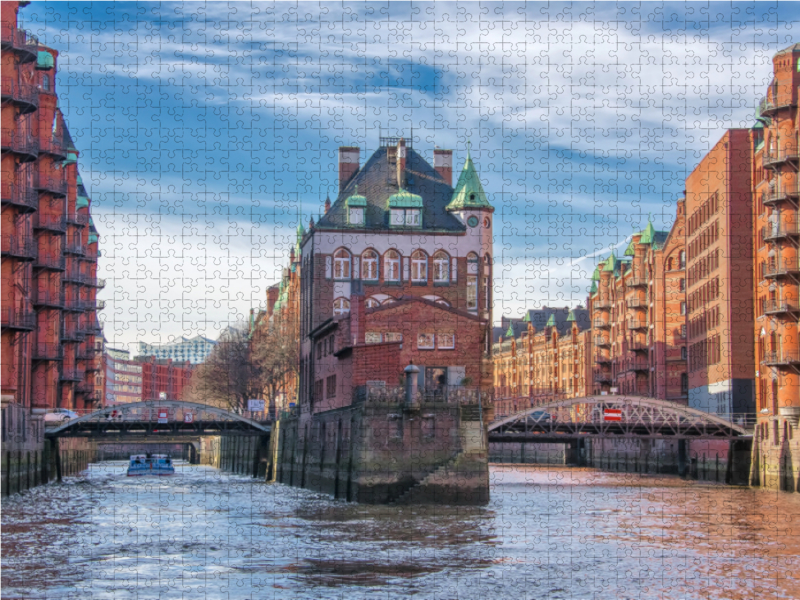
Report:
[[[110,406],[45,429],[45,437],[85,437],[95,440],[136,441],[153,437],[174,440],[205,435],[269,435],[271,421],[194,402],[148,400]]]

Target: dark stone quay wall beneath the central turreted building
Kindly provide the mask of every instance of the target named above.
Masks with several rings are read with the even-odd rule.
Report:
[[[367,504],[485,504],[489,471],[477,404],[366,398],[282,419],[274,479]]]

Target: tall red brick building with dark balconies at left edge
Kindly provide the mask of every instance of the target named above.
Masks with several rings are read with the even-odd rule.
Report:
[[[34,420],[102,403],[98,237],[58,108],[58,52],[2,11],[2,404]]]

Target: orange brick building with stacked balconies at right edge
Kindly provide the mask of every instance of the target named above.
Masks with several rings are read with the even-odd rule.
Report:
[[[798,73],[800,44],[773,58],[774,78],[751,131],[755,231],[754,482],[797,490],[800,477]]]

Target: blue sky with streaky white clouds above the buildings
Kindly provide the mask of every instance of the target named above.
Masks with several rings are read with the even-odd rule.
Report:
[[[494,318],[586,300],[595,264],[754,124],[792,3],[33,2],[100,233],[106,339],[216,338],[263,307],[337,148],[467,142]],[[457,176],[457,175],[456,175]]]

